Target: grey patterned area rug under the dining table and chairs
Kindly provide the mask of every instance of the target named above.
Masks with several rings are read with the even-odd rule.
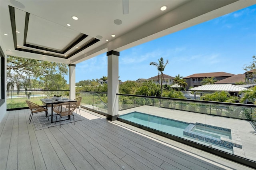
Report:
[[[76,121],[82,121],[84,117],[74,113],[75,122]],[[57,121],[60,119],[60,116],[57,117]],[[62,117],[60,120],[68,119],[68,117]],[[53,121],[56,120],[56,115],[53,115]],[[34,122],[34,125],[36,127],[36,130],[48,128],[48,127],[54,127],[54,126],[60,126],[67,123],[73,123],[73,116],[71,116],[70,120],[65,120],[57,123],[51,123],[51,116],[49,115],[49,121],[48,118],[45,117],[45,113],[38,113],[33,115],[32,121]],[[76,123],[75,123],[76,124]]]

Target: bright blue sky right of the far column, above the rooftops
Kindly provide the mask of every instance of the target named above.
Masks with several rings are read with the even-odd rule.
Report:
[[[169,64],[164,74],[186,77],[194,73],[224,71],[243,74],[256,55],[256,5],[120,51],[120,80],[158,75],[151,61]],[[106,53],[76,65],[76,83],[108,76]]]

